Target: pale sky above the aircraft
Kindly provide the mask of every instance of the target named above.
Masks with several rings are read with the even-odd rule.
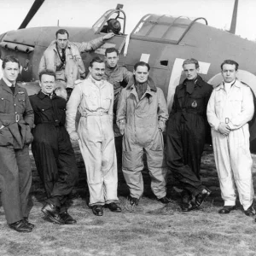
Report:
[[[33,0],[0,0],[0,34],[17,29]],[[124,4],[126,32],[131,32],[137,22],[147,14],[204,17],[209,26],[230,29],[235,0],[45,0],[37,15],[27,27],[92,26],[105,11]],[[256,41],[255,0],[240,0],[236,34]]]

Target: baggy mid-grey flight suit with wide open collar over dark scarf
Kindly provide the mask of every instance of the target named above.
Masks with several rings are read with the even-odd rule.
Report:
[[[125,122],[123,173],[132,197],[143,195],[143,152],[147,154],[151,189],[158,199],[166,196],[166,160],[162,131],[168,111],[163,91],[148,78],[148,88],[139,100],[132,77],[122,90],[117,123]],[[120,127],[120,126],[119,126]]]

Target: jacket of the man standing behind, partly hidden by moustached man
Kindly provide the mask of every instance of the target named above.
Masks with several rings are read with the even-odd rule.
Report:
[[[103,76],[110,84],[113,84],[113,94],[116,96],[122,87],[128,84],[132,73],[124,66],[116,66],[114,68],[108,67],[106,63],[105,74]],[[125,83],[124,83],[125,82]]]

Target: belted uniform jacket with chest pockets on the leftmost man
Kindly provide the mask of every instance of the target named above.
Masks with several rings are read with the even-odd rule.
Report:
[[[15,94],[0,80],[0,146],[23,148],[32,143],[34,114],[25,88],[15,84]]]

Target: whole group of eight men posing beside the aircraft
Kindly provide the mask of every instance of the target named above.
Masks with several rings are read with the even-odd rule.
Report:
[[[39,177],[47,195],[42,212],[55,224],[75,224],[67,212],[67,197],[78,179],[71,140],[79,142],[90,191],[89,206],[96,216],[103,207],[119,207],[117,156],[122,138],[122,171],[130,189],[128,204],[135,207],[143,195],[143,156],[146,154],[151,189],[163,204],[168,169],[180,183],[182,211],[189,212],[207,199],[211,191],[201,183],[201,155],[207,120],[224,207],[236,209],[235,183],[241,205],[253,216],[252,158],[248,121],[253,118],[253,93],[236,79],[236,61],[221,65],[224,82],[212,90],[199,76],[195,59],[183,62],[186,79],[176,88],[168,117],[166,98],[149,75],[148,63],[139,61],[133,73],[118,65],[119,52],[106,49],[105,61],[90,61],[85,78],[80,52],[96,49],[113,32],[88,43],[68,41],[68,32],[56,32],[39,65],[37,95],[27,96],[16,84],[20,62],[3,60],[0,81],[0,189],[9,227],[31,232],[28,194],[32,173],[28,145],[32,143]],[[75,83],[76,79],[82,79]],[[61,90],[62,93],[57,93]],[[67,91],[67,93],[63,93]],[[60,95],[60,96],[58,96]],[[79,125],[77,115],[80,114]],[[167,126],[166,126],[166,121]],[[32,131],[31,131],[32,129]],[[166,131],[166,154],[163,131]]]

